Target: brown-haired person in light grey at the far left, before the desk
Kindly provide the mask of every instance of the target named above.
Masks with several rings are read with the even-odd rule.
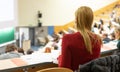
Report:
[[[6,46],[5,54],[0,55],[0,60],[9,59],[9,58],[17,58],[20,56],[21,54],[18,53],[17,47],[14,44],[10,44]]]

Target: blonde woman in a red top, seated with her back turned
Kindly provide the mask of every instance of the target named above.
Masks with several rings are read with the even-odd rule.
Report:
[[[100,56],[101,38],[91,32],[93,11],[87,6],[78,8],[75,13],[77,31],[66,34],[62,39],[62,52],[58,57],[60,67],[78,69],[84,64]]]

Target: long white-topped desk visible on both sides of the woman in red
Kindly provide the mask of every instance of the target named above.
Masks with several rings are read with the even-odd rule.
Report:
[[[101,54],[111,52],[113,50],[116,50],[115,45],[105,44],[101,48]],[[0,72],[14,72],[13,70],[32,67],[39,67],[38,69],[55,67],[57,64],[54,64],[54,61],[57,59],[59,52],[60,50],[52,50],[52,53],[36,51],[31,55],[24,55],[20,58],[0,60]],[[32,70],[28,72],[32,72]],[[35,70],[33,72],[35,72]]]

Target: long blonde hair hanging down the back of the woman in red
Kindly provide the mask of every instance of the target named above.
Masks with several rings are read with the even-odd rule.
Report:
[[[90,31],[93,22],[93,11],[87,6],[82,6],[78,8],[75,12],[76,16],[76,28],[81,33],[84,39],[86,49],[90,54],[92,54],[92,43],[90,39]]]

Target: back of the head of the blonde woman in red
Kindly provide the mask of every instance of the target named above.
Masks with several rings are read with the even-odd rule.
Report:
[[[78,30],[91,30],[93,18],[92,9],[87,6],[81,6],[75,12],[76,28]]]

